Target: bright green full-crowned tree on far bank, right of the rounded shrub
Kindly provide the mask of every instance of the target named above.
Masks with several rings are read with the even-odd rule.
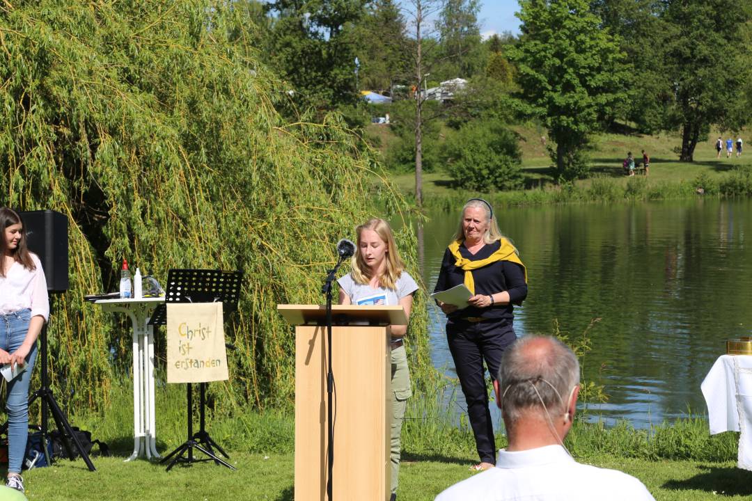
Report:
[[[551,158],[559,177],[582,177],[588,137],[626,99],[624,55],[586,0],[521,0],[517,16],[522,36],[508,56],[520,93],[556,143]]]

